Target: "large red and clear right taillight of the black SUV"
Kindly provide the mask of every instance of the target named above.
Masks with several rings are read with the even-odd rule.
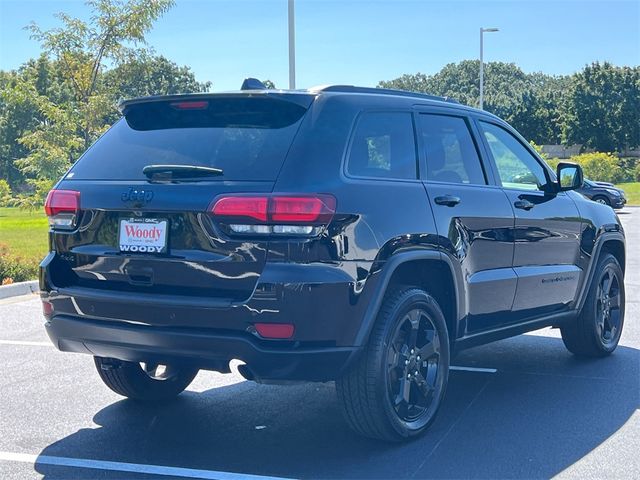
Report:
[[[231,234],[314,236],[336,211],[332,195],[229,195],[211,209]]]

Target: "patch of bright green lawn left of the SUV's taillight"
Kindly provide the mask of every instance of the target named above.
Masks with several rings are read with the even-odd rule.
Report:
[[[48,249],[48,230],[42,211],[0,208],[0,245],[6,245],[11,256],[41,260]]]

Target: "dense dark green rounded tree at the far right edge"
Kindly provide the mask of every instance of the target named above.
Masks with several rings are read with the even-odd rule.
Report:
[[[640,145],[640,67],[592,63],[573,75],[562,109],[562,139],[613,152]]]

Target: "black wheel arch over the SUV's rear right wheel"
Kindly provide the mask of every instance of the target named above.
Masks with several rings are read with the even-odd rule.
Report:
[[[405,251],[392,255],[381,268],[374,300],[365,312],[356,345],[363,346],[368,342],[385,295],[406,285],[422,288],[434,296],[443,310],[449,342],[453,346],[463,311],[460,302],[464,288],[462,279],[455,272],[451,259],[436,250]]]

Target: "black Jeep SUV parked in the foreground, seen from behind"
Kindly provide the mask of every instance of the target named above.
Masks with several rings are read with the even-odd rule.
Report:
[[[350,86],[121,107],[47,198],[40,270],[51,340],[121,395],[239,359],[335,380],[356,431],[401,440],[461,349],[546,326],[576,355],[616,348],[618,218],[493,115]]]

